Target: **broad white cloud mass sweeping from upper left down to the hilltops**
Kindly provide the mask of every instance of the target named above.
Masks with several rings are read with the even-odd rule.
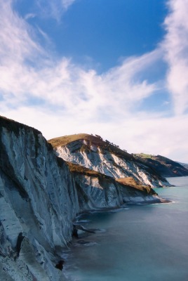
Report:
[[[158,82],[149,84],[140,73],[157,65],[163,48],[170,48],[168,34],[161,48],[123,60],[121,65],[98,74],[68,58],[57,60],[44,50],[34,30],[13,11],[11,3],[0,2],[1,115],[36,127],[46,138],[99,133],[129,152],[161,154],[188,162],[184,141],[187,115],[165,118],[135,112],[142,100],[159,89]],[[166,58],[168,63],[173,62],[173,53],[169,51]],[[175,84],[172,81],[170,85]],[[179,104],[180,100],[184,96],[179,96]]]

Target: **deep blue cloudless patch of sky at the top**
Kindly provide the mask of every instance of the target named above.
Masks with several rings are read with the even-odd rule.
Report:
[[[152,51],[164,34],[164,0],[78,0],[62,16],[51,18],[39,17],[36,3],[20,0],[15,8],[23,18],[31,16],[29,24],[48,34],[59,55],[86,65],[90,59],[100,71],[114,67],[123,57]]]

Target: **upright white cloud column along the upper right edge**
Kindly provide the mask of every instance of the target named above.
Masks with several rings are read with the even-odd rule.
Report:
[[[175,114],[188,108],[188,0],[168,1],[170,13],[164,22],[166,37],[162,48],[168,63],[167,85],[172,94]]]

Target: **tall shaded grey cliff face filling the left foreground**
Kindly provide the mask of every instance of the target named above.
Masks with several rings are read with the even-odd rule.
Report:
[[[2,280],[64,280],[55,264],[79,212],[74,178],[39,131],[3,120],[0,135]]]

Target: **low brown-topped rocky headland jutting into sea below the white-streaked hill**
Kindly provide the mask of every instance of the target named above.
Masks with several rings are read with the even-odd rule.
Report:
[[[67,162],[74,174],[79,202],[83,210],[120,207],[123,203],[165,202],[152,188],[138,185],[132,178],[115,180],[98,171]],[[127,181],[128,179],[128,181]]]

